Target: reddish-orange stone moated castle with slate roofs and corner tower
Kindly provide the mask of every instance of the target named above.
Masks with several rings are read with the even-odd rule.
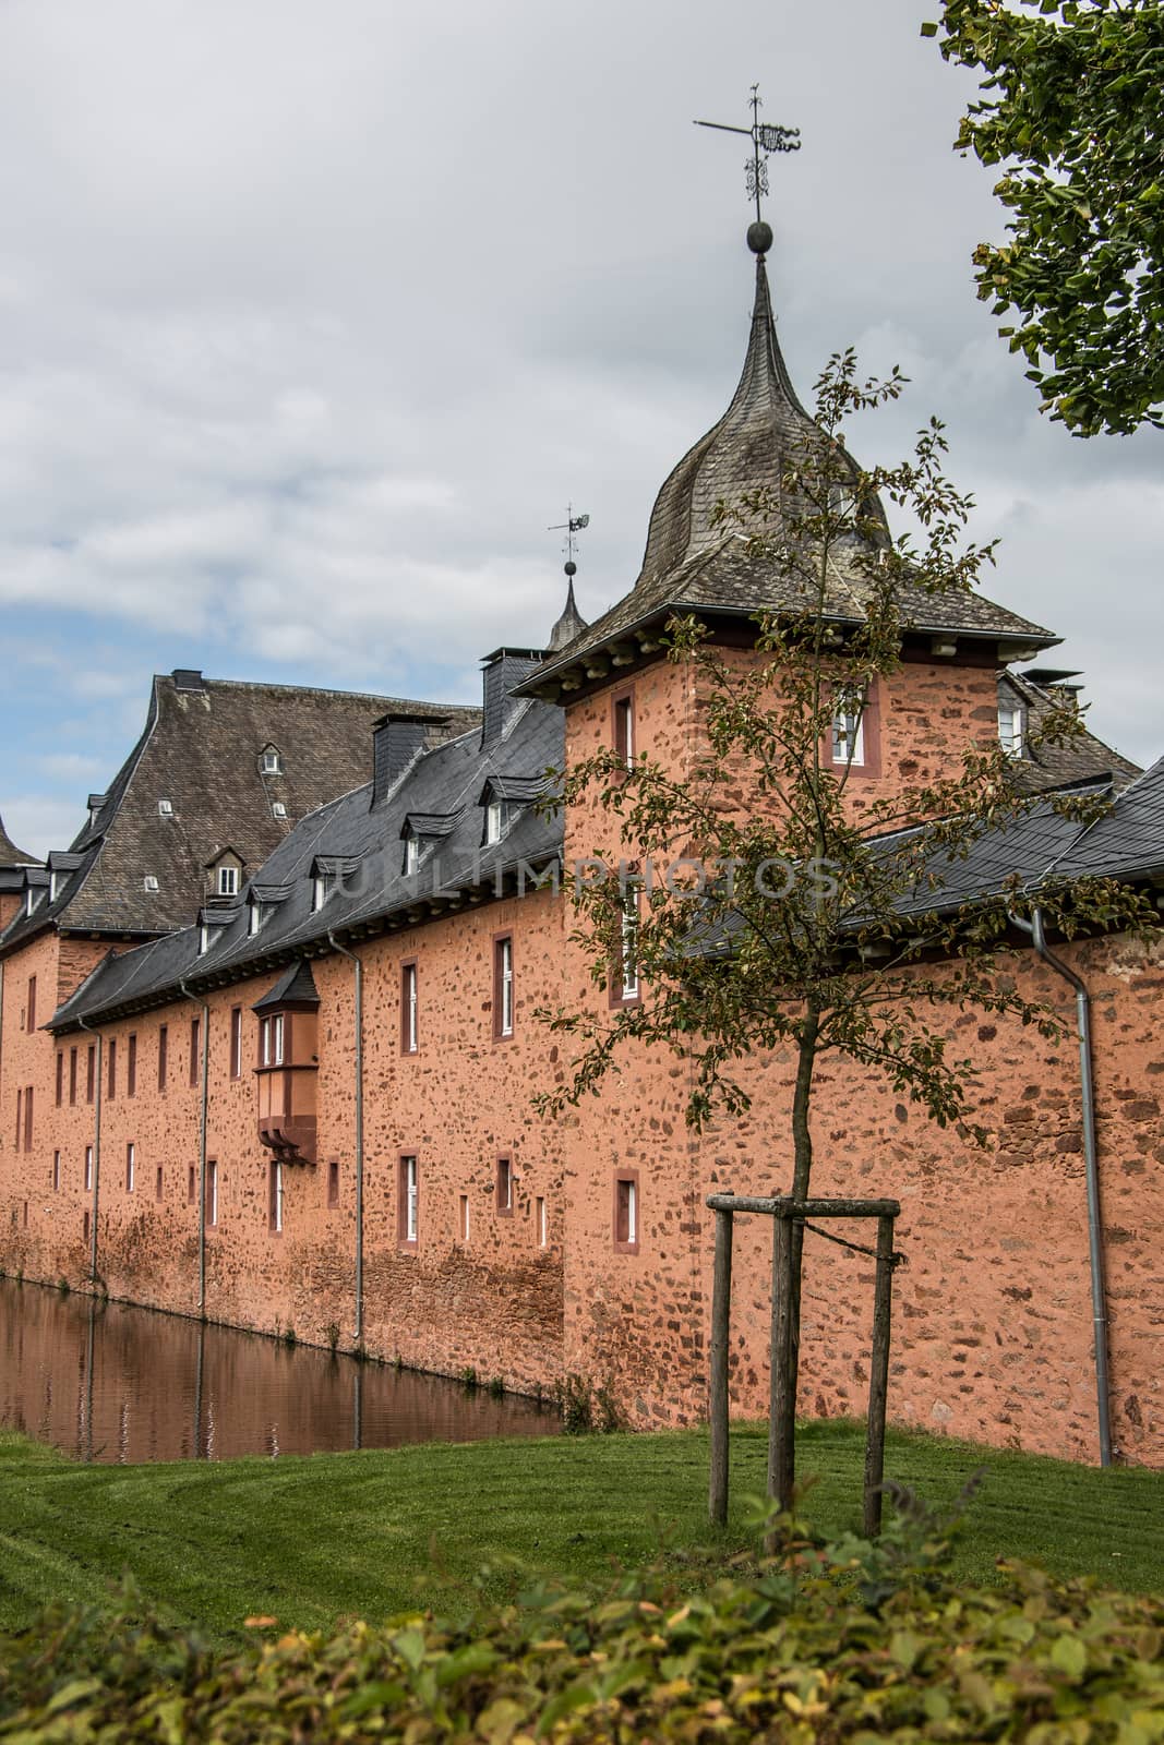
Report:
[[[173,859],[192,799],[180,757],[141,775],[159,722],[147,729],[68,855],[17,869],[21,913],[0,934],[5,1270],[518,1389],[579,1375],[637,1426],[703,1413],[705,1199],[787,1183],[792,1068],[780,1054],[745,1061],[749,1113],[698,1134],[682,1068],[646,1050],[600,1099],[557,1120],[534,1112],[569,1070],[536,1014],[637,998],[618,981],[595,988],[555,876],[602,846],[609,822],[593,804],[548,815],[537,801],[548,770],[604,747],[688,768],[702,681],[663,658],[663,626],[700,616],[747,670],[756,614],[796,607],[789,579],[714,510],[778,485],[810,422],[761,253],[738,387],[663,483],[633,586],[585,625],[571,579],[548,642],[485,660],[480,715],[359,698],[333,721],[328,701],[298,736],[272,703],[246,733],[208,742],[197,792],[220,803]],[[838,558],[838,626],[860,621],[862,586]],[[1028,750],[1028,728],[1075,675],[1012,667],[1058,639],[981,595],[918,590],[902,604],[902,661],[869,698],[855,810],[1002,733],[1028,790],[1085,784],[1113,804],[1089,831],[1038,806],[1003,852],[979,845],[958,871],[965,890],[998,890],[1012,871],[1037,886],[1052,866],[1164,888],[1164,764],[1138,775],[1092,736],[1070,754]],[[159,681],[157,717],[213,715],[227,689]],[[333,696],[283,695],[288,710]],[[304,740],[319,757],[311,777]],[[1159,1462],[1162,953],[1122,935],[1056,949],[1092,993],[1112,1420],[1127,1457]],[[1021,939],[1016,975],[1070,1021],[1072,991]],[[813,1110],[817,1190],[902,1201],[890,1412],[1094,1459],[1077,1052],[1005,1019],[953,1012],[949,1026],[984,1068],[988,1153],[839,1061],[822,1066]],[[766,1242],[742,1227],[742,1413],[766,1406]],[[860,1262],[813,1253],[806,1410],[862,1410],[867,1314]]]

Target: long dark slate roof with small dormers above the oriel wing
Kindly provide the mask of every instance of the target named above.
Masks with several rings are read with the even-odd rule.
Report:
[[[122,1009],[162,1005],[195,988],[243,979],[328,948],[328,932],[351,934],[386,918],[422,913],[438,890],[490,886],[497,871],[520,862],[541,867],[562,850],[562,820],[543,818],[532,806],[517,813],[504,839],[485,848],[482,796],[490,777],[506,785],[543,785],[546,768],[565,756],[560,708],[522,703],[504,735],[489,745],[473,729],[422,752],[386,796],[354,789],[304,818],[269,855],[262,879],[251,881],[232,911],[230,925],[215,928],[199,953],[199,928],[168,934],[150,944],[105,958],[59,1009],[51,1028],[79,1017],[112,1016]],[[401,831],[408,817],[455,820],[415,874],[403,871]],[[312,869],[335,859],[349,867],[323,904],[312,909]],[[272,904],[270,918],[250,934],[251,899]]]

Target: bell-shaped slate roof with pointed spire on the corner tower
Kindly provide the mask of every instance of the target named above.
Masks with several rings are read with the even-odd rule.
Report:
[[[630,593],[555,653],[522,688],[534,695],[560,679],[588,653],[663,621],[672,611],[733,614],[803,611],[808,604],[794,578],[757,557],[749,534],[716,525],[717,503],[738,503],[749,490],[777,496],[784,476],[803,461],[801,447],[817,426],[801,407],[777,342],[768,276],[756,262],[756,302],[743,373],[722,419],[674,468],[660,490],[642,569]],[[853,475],[857,473],[855,462]],[[880,504],[873,515],[885,525]],[[887,527],[888,539],[888,527]],[[825,611],[838,623],[859,623],[871,597],[869,578],[852,551],[838,548]],[[1049,647],[1059,639],[984,595],[965,592],[934,597],[920,586],[900,590],[900,609],[916,632],[956,632]]]

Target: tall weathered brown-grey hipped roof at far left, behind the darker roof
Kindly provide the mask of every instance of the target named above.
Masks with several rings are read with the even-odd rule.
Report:
[[[194,672],[155,677],[145,729],[72,845],[75,871],[56,902],[0,934],[0,953],[45,925],[122,937],[188,927],[222,850],[253,874],[304,817],[366,780],[372,728],[387,710],[431,715],[435,705]],[[450,724],[433,726],[435,738],[480,719],[461,705],[442,714]],[[279,775],[262,773],[269,747]],[[159,801],[173,813],[161,815]],[[147,892],[147,876],[157,892]]]

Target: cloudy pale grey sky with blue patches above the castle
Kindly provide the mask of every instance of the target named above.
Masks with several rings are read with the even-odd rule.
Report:
[[[1164,750],[1159,433],[1038,414],[976,297],[993,176],[934,0],[0,0],[0,813],[72,839],[154,672],[475,701],[633,583],[747,340],[747,141],[780,344],[911,379],[1089,724]]]

